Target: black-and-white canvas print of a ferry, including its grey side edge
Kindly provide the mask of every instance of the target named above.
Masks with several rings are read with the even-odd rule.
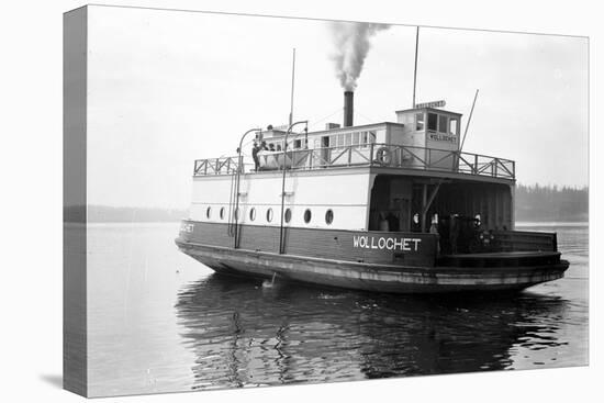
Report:
[[[585,37],[105,5],[64,35],[66,389],[589,363]]]

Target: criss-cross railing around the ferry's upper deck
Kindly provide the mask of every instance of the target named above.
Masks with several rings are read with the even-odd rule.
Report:
[[[514,179],[515,163],[486,155],[460,153],[439,148],[371,143],[314,149],[260,152],[259,171],[313,170],[339,167],[385,167],[444,172],[468,173],[493,178]],[[237,157],[195,160],[193,176],[232,175],[239,169]],[[242,172],[255,171],[250,156],[244,157]]]

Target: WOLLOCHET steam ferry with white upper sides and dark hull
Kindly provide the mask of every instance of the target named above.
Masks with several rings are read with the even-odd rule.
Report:
[[[515,231],[515,163],[463,152],[460,113],[416,104],[354,125],[344,100],[342,125],[253,128],[238,155],[195,160],[178,248],[216,272],[378,292],[563,277],[555,233]]]

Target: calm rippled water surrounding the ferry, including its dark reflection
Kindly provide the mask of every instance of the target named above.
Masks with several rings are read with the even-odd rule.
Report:
[[[91,395],[588,363],[588,226],[564,279],[515,296],[404,296],[213,275],[175,224],[89,230]]]

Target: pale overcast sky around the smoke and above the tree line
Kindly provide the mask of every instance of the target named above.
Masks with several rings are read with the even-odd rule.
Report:
[[[90,204],[186,208],[195,158],[234,155],[251,127],[342,122],[327,22],[89,8]],[[355,123],[411,108],[415,27],[372,37]],[[417,101],[463,113],[465,150],[516,160],[519,183],[588,184],[588,40],[422,27]],[[328,119],[324,119],[329,116]]]

